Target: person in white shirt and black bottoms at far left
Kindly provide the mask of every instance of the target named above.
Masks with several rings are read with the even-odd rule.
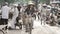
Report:
[[[2,6],[1,11],[2,11],[2,23],[4,25],[7,25],[9,19],[9,11],[10,11],[7,2],[5,2],[4,6]],[[5,29],[7,29],[7,26],[5,27]]]

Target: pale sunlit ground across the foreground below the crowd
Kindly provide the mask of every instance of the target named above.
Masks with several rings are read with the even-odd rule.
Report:
[[[34,29],[32,34],[60,34],[60,27],[50,26],[47,24],[41,25],[40,20],[34,20]],[[7,34],[29,34],[25,32],[25,29],[22,30],[8,30]]]

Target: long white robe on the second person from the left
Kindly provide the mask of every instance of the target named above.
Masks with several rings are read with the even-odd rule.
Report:
[[[17,8],[13,8],[13,17],[9,21],[9,26],[11,28],[13,28],[13,29],[15,28],[16,18],[18,17],[18,14],[19,14],[18,9]]]

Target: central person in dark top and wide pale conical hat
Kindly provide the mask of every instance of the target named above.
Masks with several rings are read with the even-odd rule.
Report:
[[[26,20],[27,20],[26,22],[29,24],[27,24],[27,25],[32,26],[30,28],[33,28],[32,17],[36,17],[35,15],[33,15],[33,13],[35,13],[35,11],[36,11],[35,4],[32,1],[29,1],[28,6],[25,10],[25,13],[28,15],[26,17]],[[30,15],[30,18],[29,18],[29,15]],[[31,20],[29,20],[29,19],[31,19]],[[26,26],[26,29],[27,29],[27,26]]]

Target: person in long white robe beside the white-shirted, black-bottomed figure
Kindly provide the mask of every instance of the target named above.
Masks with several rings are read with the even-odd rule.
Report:
[[[15,24],[16,24],[16,18],[18,17],[18,9],[17,9],[17,4],[13,4],[13,16],[12,16],[12,20],[11,20],[11,29],[15,29]]]

